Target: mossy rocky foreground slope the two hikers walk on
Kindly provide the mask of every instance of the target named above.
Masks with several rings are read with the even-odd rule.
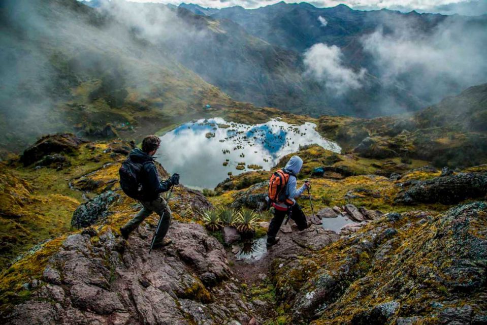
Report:
[[[4,322],[485,321],[487,206],[473,203],[487,193],[485,166],[440,172],[422,160],[303,147],[299,181],[312,177],[315,212],[339,212],[351,223],[336,233],[314,226],[299,232],[291,222],[280,245],[249,263],[207,232],[200,212],[222,204],[261,207],[267,172],[234,177],[210,198],[175,187],[169,200],[174,244],[147,255],[155,216],[128,241],[118,233],[139,209],[117,183],[120,161],[133,145],[59,134],[2,164],[1,217],[8,225],[2,242],[11,243],[2,254],[8,265],[0,281]],[[311,216],[309,201],[300,203]]]

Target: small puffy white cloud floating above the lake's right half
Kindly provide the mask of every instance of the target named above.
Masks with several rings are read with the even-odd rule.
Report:
[[[349,89],[362,87],[365,69],[355,72],[343,65],[339,47],[323,43],[313,45],[304,53],[306,74],[324,82],[327,88],[340,95]]]

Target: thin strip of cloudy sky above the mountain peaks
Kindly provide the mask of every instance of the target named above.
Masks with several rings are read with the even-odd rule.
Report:
[[[178,0],[131,1],[171,3],[174,5],[181,3]],[[272,5],[277,3],[278,0],[186,0],[185,2],[211,8],[242,6],[251,9]],[[294,1],[286,2],[293,3]],[[487,0],[310,0],[308,2],[316,7],[334,7],[339,4],[345,4],[353,9],[362,10],[387,8],[401,11],[439,12],[443,14],[478,15],[487,13]]]

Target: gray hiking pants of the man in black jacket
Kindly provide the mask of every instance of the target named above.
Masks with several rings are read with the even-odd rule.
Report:
[[[134,218],[128,221],[123,228],[128,233],[131,233],[142,221],[145,220],[145,218],[151,215],[152,212],[155,212],[163,218],[160,224],[159,233],[154,241],[154,243],[160,243],[164,239],[164,236],[166,236],[169,229],[169,224],[171,223],[171,209],[169,208],[168,203],[161,197],[158,197],[153,201],[139,202],[142,204],[142,210],[140,210]]]

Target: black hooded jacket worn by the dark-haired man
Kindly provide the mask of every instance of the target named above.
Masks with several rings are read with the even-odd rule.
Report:
[[[143,164],[142,175],[142,201],[152,201],[159,197],[159,193],[166,192],[171,188],[172,182],[168,179],[164,182],[159,180],[159,174],[154,165],[154,158],[139,148],[135,148],[129,154],[134,163]]]

